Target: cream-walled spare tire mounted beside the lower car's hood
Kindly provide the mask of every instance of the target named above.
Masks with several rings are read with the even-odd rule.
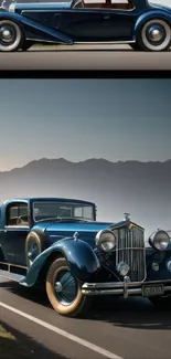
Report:
[[[31,267],[33,261],[42,253],[42,240],[36,232],[30,232],[25,241],[25,257],[28,268]]]

